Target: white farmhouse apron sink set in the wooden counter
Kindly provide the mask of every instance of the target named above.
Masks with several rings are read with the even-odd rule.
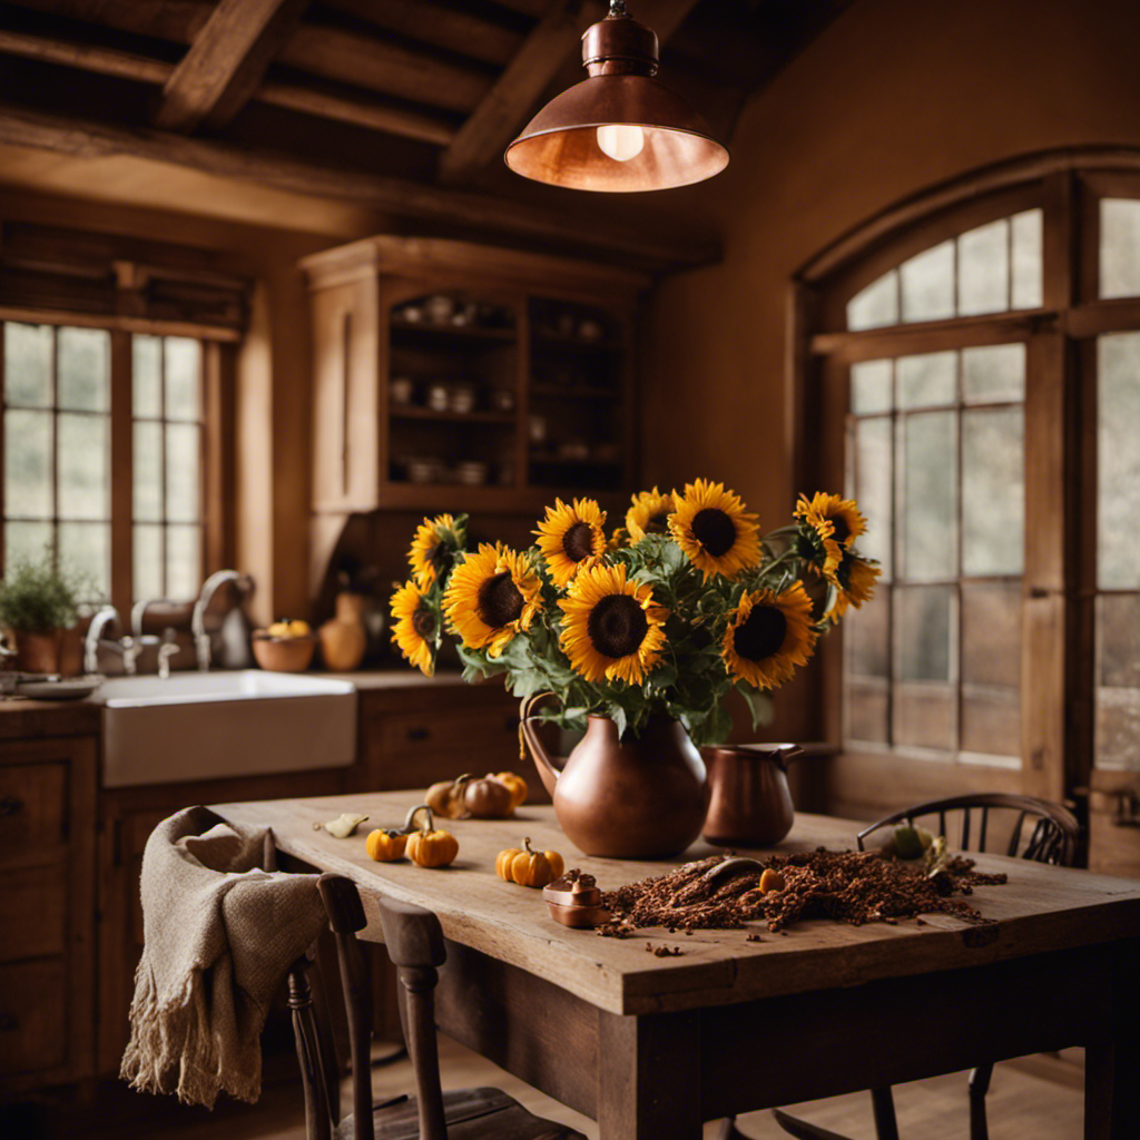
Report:
[[[103,783],[178,783],[345,767],[357,694],[347,681],[241,669],[113,677],[103,706]]]

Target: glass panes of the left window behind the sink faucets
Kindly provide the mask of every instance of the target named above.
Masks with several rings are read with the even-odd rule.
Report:
[[[194,597],[204,546],[201,342],[11,320],[0,336],[3,564],[47,554],[80,576],[90,604],[111,600],[114,580],[131,584],[121,606]],[[127,377],[113,374],[128,356],[113,352],[116,336],[129,347]],[[130,421],[129,459],[113,453],[117,417]],[[132,510],[116,519],[122,481]],[[117,567],[116,549],[125,552]]]

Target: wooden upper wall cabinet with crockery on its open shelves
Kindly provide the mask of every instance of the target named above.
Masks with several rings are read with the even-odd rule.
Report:
[[[316,511],[535,510],[633,484],[648,276],[398,237],[302,268]]]

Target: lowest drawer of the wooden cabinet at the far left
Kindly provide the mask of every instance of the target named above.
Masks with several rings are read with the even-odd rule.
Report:
[[[62,958],[0,969],[0,1073],[35,1073],[67,1060],[66,1003]]]

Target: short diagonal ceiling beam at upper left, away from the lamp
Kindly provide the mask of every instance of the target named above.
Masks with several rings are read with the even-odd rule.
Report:
[[[308,0],[218,0],[181,63],[166,80],[154,124],[189,132],[223,127],[264,76]]]

